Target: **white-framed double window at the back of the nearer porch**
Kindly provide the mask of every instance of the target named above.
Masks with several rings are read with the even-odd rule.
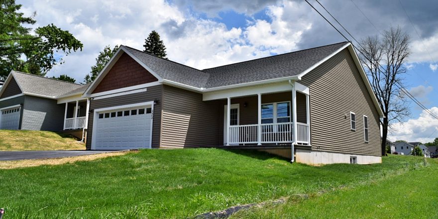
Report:
[[[262,105],[262,124],[291,121],[290,102]]]

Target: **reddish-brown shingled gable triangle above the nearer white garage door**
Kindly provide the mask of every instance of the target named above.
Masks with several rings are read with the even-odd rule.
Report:
[[[126,53],[122,54],[93,94],[158,81]]]

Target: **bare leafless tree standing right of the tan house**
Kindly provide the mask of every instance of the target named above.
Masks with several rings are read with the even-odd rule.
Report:
[[[410,115],[407,97],[401,90],[404,87],[403,74],[407,72],[404,64],[410,54],[409,43],[410,36],[400,27],[391,27],[380,38],[369,36],[360,43],[360,60],[371,78],[371,86],[385,116],[380,120],[382,155],[385,155],[391,124],[401,122]]]

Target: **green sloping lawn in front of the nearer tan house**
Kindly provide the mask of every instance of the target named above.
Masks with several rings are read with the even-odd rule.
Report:
[[[411,167],[422,163],[403,156],[383,161],[312,167],[249,151],[142,150],[73,164],[1,170],[0,205],[6,211],[4,219],[187,218],[416,174],[420,171]]]

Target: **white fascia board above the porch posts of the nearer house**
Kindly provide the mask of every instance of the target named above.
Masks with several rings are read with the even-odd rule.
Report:
[[[226,98],[245,97],[257,94],[270,94],[278,92],[292,91],[292,86],[288,81],[275,84],[266,84],[252,87],[235,88],[223,91],[203,93],[203,101],[212,101]]]

